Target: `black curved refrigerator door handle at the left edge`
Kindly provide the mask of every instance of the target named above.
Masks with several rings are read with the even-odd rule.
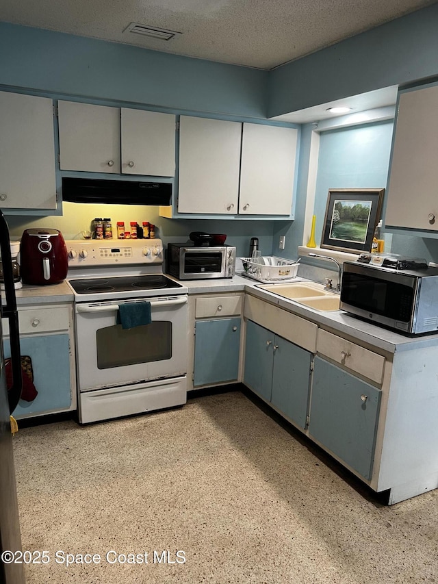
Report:
[[[12,257],[9,240],[8,223],[0,211],[0,251],[3,261],[3,280],[5,283],[6,304],[1,306],[1,317],[9,320],[9,338],[11,346],[12,387],[8,391],[10,414],[18,405],[21,398],[23,379],[21,377],[20,333],[18,331],[18,311],[14,288],[14,273],[12,271]]]

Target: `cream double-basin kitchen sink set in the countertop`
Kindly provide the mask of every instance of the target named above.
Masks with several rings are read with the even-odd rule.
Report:
[[[310,308],[328,312],[330,310],[339,310],[339,294],[324,290],[319,283],[287,283],[287,284],[265,284],[259,285],[258,288],[273,292],[283,298],[293,300]]]

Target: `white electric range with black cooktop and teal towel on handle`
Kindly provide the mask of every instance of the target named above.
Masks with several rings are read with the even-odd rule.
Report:
[[[185,403],[188,290],[163,274],[161,240],[66,245],[67,282],[75,296],[79,422]],[[131,328],[120,323],[120,305],[134,311]],[[149,309],[150,322],[142,324]]]

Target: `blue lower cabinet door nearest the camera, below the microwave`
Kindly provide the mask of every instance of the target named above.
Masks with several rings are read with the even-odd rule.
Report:
[[[381,392],[315,357],[309,434],[370,479]]]

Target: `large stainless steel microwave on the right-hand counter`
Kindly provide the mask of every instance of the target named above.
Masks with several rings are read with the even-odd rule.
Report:
[[[344,262],[340,308],[409,335],[438,332],[438,269]]]

